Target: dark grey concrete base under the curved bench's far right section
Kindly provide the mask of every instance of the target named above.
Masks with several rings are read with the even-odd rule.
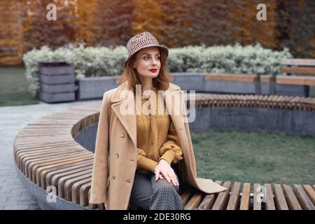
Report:
[[[315,135],[315,113],[299,110],[281,110],[246,107],[202,108],[196,111],[196,120],[190,129],[245,130]]]

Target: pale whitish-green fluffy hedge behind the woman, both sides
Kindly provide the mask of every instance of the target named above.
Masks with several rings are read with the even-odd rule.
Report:
[[[287,49],[273,51],[255,46],[186,46],[170,48],[167,69],[170,72],[254,73],[278,74],[281,61],[292,57]],[[63,47],[52,50],[47,46],[23,55],[29,92],[35,97],[39,92],[38,62],[65,61],[73,65],[76,78],[116,76],[123,73],[127,59],[125,46],[115,48]]]

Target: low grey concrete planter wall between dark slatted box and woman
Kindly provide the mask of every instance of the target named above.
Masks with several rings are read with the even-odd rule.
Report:
[[[82,78],[77,80],[78,101],[87,99],[102,99],[104,92],[118,87],[120,76],[104,76],[96,78]]]

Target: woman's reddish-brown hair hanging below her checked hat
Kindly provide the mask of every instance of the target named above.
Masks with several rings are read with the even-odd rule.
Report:
[[[169,81],[172,79],[167,73],[166,66],[167,66],[167,55],[162,52],[160,49],[160,62],[161,68],[160,73],[158,76],[153,78],[153,87],[157,90],[167,90],[169,88]],[[120,83],[124,83],[126,80],[132,86],[134,92],[136,92],[136,85],[141,85],[141,80],[139,78],[139,74],[137,70],[133,68],[133,62],[137,58],[138,52],[136,52],[130,59],[127,61],[127,65],[125,70],[123,71],[123,75],[119,78]]]

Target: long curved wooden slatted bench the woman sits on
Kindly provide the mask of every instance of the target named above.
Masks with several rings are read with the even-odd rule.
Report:
[[[315,110],[315,99],[259,95],[197,94],[196,107],[263,107],[269,109]],[[104,204],[88,204],[94,153],[73,137],[98,123],[101,103],[89,109],[76,107],[53,113],[27,125],[15,137],[14,159],[20,178],[36,190],[57,190],[66,209],[104,209]],[[206,195],[193,188],[180,194],[185,209],[260,210],[315,209],[315,185],[240,183],[217,180],[228,190]],[[47,192],[48,194],[48,192]],[[34,195],[36,197],[36,194]],[[130,207],[131,208],[131,207]]]

